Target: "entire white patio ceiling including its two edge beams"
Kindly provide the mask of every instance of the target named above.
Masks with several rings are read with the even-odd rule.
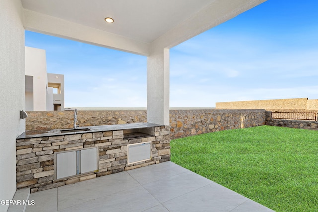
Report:
[[[21,0],[26,30],[142,55],[150,55],[151,45],[173,47],[264,1]]]

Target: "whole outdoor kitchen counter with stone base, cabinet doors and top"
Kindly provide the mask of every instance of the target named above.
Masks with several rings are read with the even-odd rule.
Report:
[[[170,126],[152,123],[26,131],[16,139],[16,187],[31,193],[169,161]]]

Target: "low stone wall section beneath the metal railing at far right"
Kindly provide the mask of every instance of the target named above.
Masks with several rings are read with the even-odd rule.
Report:
[[[272,119],[272,112],[266,111],[266,125],[298,129],[318,130],[318,122],[306,120]]]

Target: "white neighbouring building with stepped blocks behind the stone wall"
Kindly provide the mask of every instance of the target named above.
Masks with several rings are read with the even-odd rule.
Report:
[[[25,47],[25,110],[64,110],[64,75],[46,72],[43,49]]]

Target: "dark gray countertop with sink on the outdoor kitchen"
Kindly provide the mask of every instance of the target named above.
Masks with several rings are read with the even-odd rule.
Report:
[[[73,130],[74,128],[56,129],[56,130],[43,131],[43,132],[25,131],[16,139],[27,139],[27,138],[36,138],[36,137],[46,137],[46,136],[62,136],[62,135],[71,135],[71,134],[80,134],[80,133],[93,133],[93,132],[101,132],[101,131],[138,129],[138,128],[147,128],[147,127],[160,127],[160,126],[163,126],[163,125],[143,122],[143,123],[132,123],[132,124],[123,124],[123,125],[100,125],[100,126],[77,127],[75,129],[76,132],[63,132],[63,130]]]

